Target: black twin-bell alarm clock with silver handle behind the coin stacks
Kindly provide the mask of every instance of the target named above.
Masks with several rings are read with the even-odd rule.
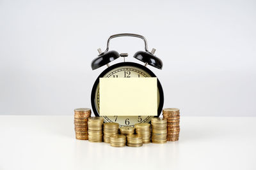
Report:
[[[144,62],[145,64],[137,64],[135,62],[125,62],[125,57],[128,56],[127,53],[118,53],[115,50],[109,51],[109,41],[112,38],[123,37],[123,36],[132,36],[136,38],[143,39],[145,43],[145,51],[139,51],[134,54],[134,58]],[[161,59],[154,55],[155,49],[153,48],[151,52],[148,51],[147,39],[144,36],[139,34],[115,34],[108,38],[107,47],[104,52],[98,49],[99,55],[92,61],[92,69],[97,69],[102,66],[107,66],[107,68],[98,76],[95,81],[92,94],[91,94],[91,102],[92,102],[92,110],[96,117],[99,117],[99,78],[147,78],[147,77],[156,77],[156,75],[147,68],[148,65],[156,67],[157,69],[162,69],[163,62]],[[119,57],[124,57],[124,62],[120,62],[114,64],[113,66],[109,66],[109,63],[113,60],[118,59]],[[117,99],[122,100],[122,99]],[[160,81],[157,79],[157,117],[161,114],[164,103],[164,94]],[[115,107],[115,101],[113,101],[113,107]],[[103,116],[104,122],[116,122],[122,126],[131,126],[134,127],[135,124],[138,123],[149,123],[151,118],[154,116]]]

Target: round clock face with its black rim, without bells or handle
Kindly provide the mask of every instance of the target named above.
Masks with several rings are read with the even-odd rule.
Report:
[[[131,78],[131,77],[156,77],[152,71],[147,67],[133,62],[122,62],[108,67],[95,81],[92,90],[92,108],[96,116],[99,116],[99,78]],[[158,106],[158,116],[163,108],[163,90],[161,84],[157,80],[157,106]],[[115,102],[113,102],[113,107],[115,107]],[[159,108],[160,107],[160,108]],[[160,110],[160,112],[159,112]],[[138,123],[148,123],[154,116],[104,116],[104,122],[116,122],[122,126],[134,126]]]

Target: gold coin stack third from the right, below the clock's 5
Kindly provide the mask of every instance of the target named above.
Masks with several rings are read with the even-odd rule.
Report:
[[[141,123],[135,124],[136,134],[140,134],[143,144],[150,143],[151,131],[150,124]]]

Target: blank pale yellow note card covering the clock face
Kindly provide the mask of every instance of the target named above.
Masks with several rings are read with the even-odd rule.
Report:
[[[100,116],[157,115],[157,78],[100,78]]]

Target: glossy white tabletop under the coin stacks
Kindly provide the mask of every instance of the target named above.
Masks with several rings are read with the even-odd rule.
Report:
[[[140,148],[75,139],[72,116],[0,116],[0,169],[256,169],[256,118],[181,117],[180,140]]]

